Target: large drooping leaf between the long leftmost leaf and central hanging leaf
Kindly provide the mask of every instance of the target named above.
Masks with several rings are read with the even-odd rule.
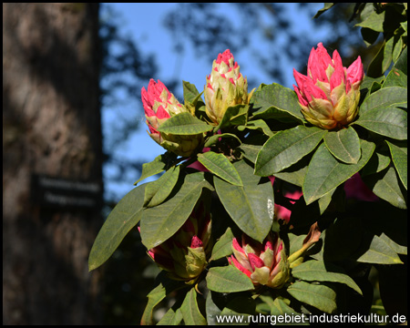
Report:
[[[212,189],[203,172],[188,174],[180,190],[159,206],[142,212],[142,243],[151,249],[171,237],[190,217],[203,188]]]

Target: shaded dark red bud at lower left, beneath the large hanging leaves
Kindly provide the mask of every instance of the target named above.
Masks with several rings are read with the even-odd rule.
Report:
[[[168,272],[169,278],[194,283],[210,256],[210,213],[200,203],[169,240],[149,250],[149,257]]]

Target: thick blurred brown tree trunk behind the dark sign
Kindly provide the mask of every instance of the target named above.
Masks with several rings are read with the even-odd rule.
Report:
[[[3,323],[101,323],[100,209],[36,203],[32,175],[97,181],[98,5],[3,4]]]

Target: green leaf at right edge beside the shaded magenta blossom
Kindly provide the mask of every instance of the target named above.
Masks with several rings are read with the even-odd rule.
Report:
[[[380,172],[376,178],[372,190],[374,194],[399,209],[406,209],[407,195],[405,189],[402,190],[400,187],[395,169],[389,168],[385,172]]]

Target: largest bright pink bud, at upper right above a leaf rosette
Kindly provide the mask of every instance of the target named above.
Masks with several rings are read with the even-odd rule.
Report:
[[[342,128],[351,123],[358,113],[359,87],[364,78],[360,56],[354,63],[343,67],[337,50],[333,58],[322,43],[312,49],[309,56],[307,76],[293,69],[302,114],[316,127]]]

